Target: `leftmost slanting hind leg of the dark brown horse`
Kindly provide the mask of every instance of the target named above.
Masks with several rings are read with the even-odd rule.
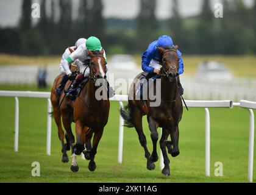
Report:
[[[138,113],[138,112],[136,112],[136,113]],[[147,158],[147,169],[153,170],[153,169],[155,169],[155,163],[152,161],[149,161],[150,153],[149,153],[149,150],[147,147],[146,136],[143,133],[142,116],[135,114],[135,113],[132,116],[133,116],[133,124],[138,133],[138,138],[140,140],[140,144],[144,148],[145,157]]]

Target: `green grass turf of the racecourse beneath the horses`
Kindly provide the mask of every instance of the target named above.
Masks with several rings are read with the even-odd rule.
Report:
[[[0,90],[20,87],[0,86]],[[24,87],[22,90],[37,90]],[[49,88],[47,89],[49,90]],[[123,164],[118,158],[118,102],[111,102],[108,124],[96,154],[96,171],[90,172],[88,161],[77,157],[79,171],[70,170],[69,162],[62,163],[57,128],[52,119],[51,156],[46,155],[46,99],[19,98],[19,151],[13,151],[14,98],[0,97],[0,182],[247,182],[249,114],[243,108],[210,108],[211,161],[210,177],[205,177],[204,109],[184,110],[180,122],[180,155],[170,155],[171,176],[161,174],[159,160],[154,171],[146,169],[143,148],[135,129],[124,129]],[[74,132],[74,125],[73,125]],[[144,132],[152,151],[148,124]],[[159,151],[159,146],[158,146]],[[159,155],[159,154],[158,154]],[[31,163],[40,163],[40,177],[32,177]],[[214,176],[215,162],[223,163],[223,177]],[[254,158],[255,161],[255,158]],[[254,182],[256,171],[254,171]]]

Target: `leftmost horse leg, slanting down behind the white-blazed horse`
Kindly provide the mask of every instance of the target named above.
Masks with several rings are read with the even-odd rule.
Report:
[[[59,139],[60,139],[60,142],[62,143],[62,161],[63,161],[63,163],[67,163],[68,162],[68,155],[66,154],[67,147],[66,147],[66,144],[64,143],[64,131],[62,129],[60,110],[58,110],[58,108],[54,107],[53,113],[54,113],[55,123],[58,127]]]

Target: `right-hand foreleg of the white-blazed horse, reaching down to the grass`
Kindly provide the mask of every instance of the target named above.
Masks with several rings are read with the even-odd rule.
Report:
[[[94,157],[97,153],[97,147],[99,145],[99,141],[101,140],[103,130],[104,130],[104,128],[94,130],[93,147],[90,152],[90,162],[88,165],[88,169],[90,171],[94,171],[96,169],[96,163],[94,161]]]

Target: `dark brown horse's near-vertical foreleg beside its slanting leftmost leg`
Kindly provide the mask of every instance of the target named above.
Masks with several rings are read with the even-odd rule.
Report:
[[[149,157],[149,160],[152,162],[156,162],[158,160],[158,155],[157,155],[158,123],[154,119],[152,119],[151,116],[148,117],[148,122],[149,122],[149,129],[151,130],[151,140],[153,143],[153,151],[151,156]]]

